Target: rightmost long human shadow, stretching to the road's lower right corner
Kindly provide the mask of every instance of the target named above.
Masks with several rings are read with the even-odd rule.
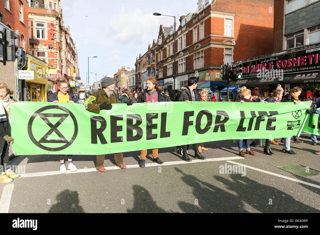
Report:
[[[225,184],[228,190],[236,192],[241,200],[262,213],[320,212],[316,208],[312,208],[274,187],[260,184],[240,174],[230,174],[230,177],[232,180],[228,180],[222,176],[213,176],[215,180]]]

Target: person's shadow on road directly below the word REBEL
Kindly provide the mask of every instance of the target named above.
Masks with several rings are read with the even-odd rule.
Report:
[[[133,185],[133,208],[127,209],[128,213],[165,213],[157,206],[147,189],[140,185]]]

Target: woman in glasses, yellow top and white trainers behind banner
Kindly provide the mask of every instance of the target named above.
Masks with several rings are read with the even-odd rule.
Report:
[[[57,104],[58,102],[69,102],[69,103],[76,102],[76,97],[71,92],[68,91],[69,87],[68,87],[67,80],[60,81],[58,79],[55,82],[55,84],[57,84],[59,90],[50,96],[50,98],[48,99],[48,102],[53,102],[55,104]],[[67,169],[64,162],[64,155],[60,154],[58,155],[58,157],[60,160],[60,173],[61,174],[66,173]],[[77,168],[72,163],[72,156],[68,155],[67,157],[68,157],[68,169],[71,171],[76,171]]]

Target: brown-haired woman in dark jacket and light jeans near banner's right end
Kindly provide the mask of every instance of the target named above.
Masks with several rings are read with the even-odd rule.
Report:
[[[301,87],[294,87],[291,90],[289,90],[289,94],[286,94],[282,99],[281,102],[294,102],[294,104],[300,104],[301,101],[299,100],[299,96],[301,94],[302,88]],[[296,136],[293,136],[294,143],[302,143],[302,140],[298,140]],[[282,152],[289,153],[289,154],[297,154],[290,150],[290,140],[291,138],[283,138],[281,142],[284,143],[284,148]]]

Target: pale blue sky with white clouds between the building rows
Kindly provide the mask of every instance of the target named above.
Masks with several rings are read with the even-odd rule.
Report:
[[[90,84],[105,75],[115,74],[121,66],[134,67],[137,56],[157,40],[159,27],[173,25],[173,17],[154,16],[154,12],[182,15],[195,12],[197,0],[181,1],[84,1],[61,0],[64,26],[70,26],[76,42],[80,76],[85,81],[90,58]]]

